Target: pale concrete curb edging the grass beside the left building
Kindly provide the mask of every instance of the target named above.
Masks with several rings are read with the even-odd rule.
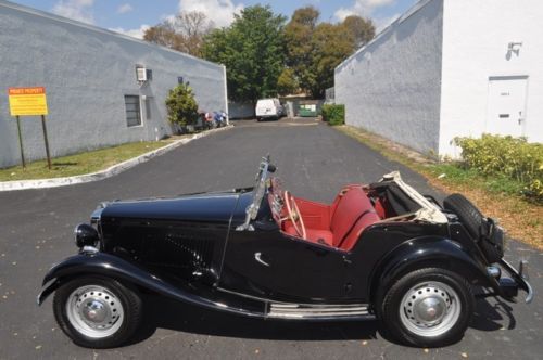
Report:
[[[92,173],[85,173],[85,175],[78,175],[78,176],[65,177],[65,178],[3,181],[3,182],[0,182],[0,191],[58,188],[58,187],[66,187],[66,185],[74,185],[77,183],[85,183],[85,182],[103,180],[103,179],[110,178],[112,176],[115,176],[117,173],[121,173],[125,170],[128,170],[129,168],[135,167],[138,164],[146,163],[155,156],[160,156],[162,154],[171,152],[172,150],[179,147],[180,145],[184,145],[186,143],[189,143],[192,140],[200,139],[200,138],[206,137],[209,134],[212,134],[212,133],[215,133],[218,131],[232,129],[232,128],[233,128],[233,126],[230,125],[230,126],[227,126],[224,128],[213,129],[213,130],[209,130],[205,132],[200,132],[200,133],[193,134],[190,138],[180,139],[180,140],[177,140],[169,145],[165,145],[163,147],[153,150],[149,153],[144,153],[138,157],[134,157],[134,158],[127,159],[126,162],[113,165],[113,166],[106,168],[105,170],[101,170],[101,171],[97,171],[97,172],[92,172]]]

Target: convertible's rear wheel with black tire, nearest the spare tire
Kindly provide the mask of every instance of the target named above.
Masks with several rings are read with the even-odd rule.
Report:
[[[438,288],[439,292],[435,291]],[[376,303],[376,314],[381,332],[386,337],[409,346],[440,347],[458,342],[466,332],[475,307],[475,297],[469,283],[457,273],[440,268],[408,272],[392,282],[383,293]],[[434,293],[435,295],[431,295]],[[412,294],[421,295],[417,295],[419,298],[413,300]],[[443,318],[438,319],[434,325],[424,326],[422,323],[419,325],[416,321],[420,319],[415,319],[412,314],[420,309],[417,304],[420,305],[422,299],[429,298],[442,299],[439,301],[442,301],[443,306],[449,305],[445,306]],[[412,304],[413,307],[409,308]],[[433,308],[438,308],[439,312],[439,306]],[[435,312],[434,309],[428,311]]]

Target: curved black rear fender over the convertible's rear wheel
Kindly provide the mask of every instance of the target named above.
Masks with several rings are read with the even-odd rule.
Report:
[[[403,274],[421,268],[442,268],[454,271],[470,283],[496,287],[495,279],[490,277],[483,263],[471,256],[460,244],[445,237],[425,236],[402,243],[374,269],[369,294],[384,292],[388,285]]]

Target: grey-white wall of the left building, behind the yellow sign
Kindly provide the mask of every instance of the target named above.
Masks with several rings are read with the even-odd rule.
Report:
[[[152,70],[141,87],[136,64]],[[228,111],[223,65],[0,0],[0,167],[21,162],[9,87],[46,87],[51,153],[61,156],[172,133],[164,100],[178,77],[200,108]],[[127,126],[129,94],[140,95],[141,126]],[[22,128],[27,159],[43,158],[39,117],[22,118]]]

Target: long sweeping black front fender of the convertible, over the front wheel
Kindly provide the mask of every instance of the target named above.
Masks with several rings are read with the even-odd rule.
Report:
[[[105,253],[79,254],[66,258],[62,262],[55,265],[43,278],[42,286],[45,288],[38,295],[38,305],[41,305],[46,298],[53,293],[59,286],[74,277],[85,274],[98,274],[125,281],[130,284],[141,286],[157,294],[168,296],[176,300],[203,306],[206,308],[217,309],[240,313],[249,317],[262,316],[247,311],[242,308],[227,307],[217,304],[212,299],[207,299],[195,294],[192,294],[179,286],[174,286],[159,277],[148,272],[147,270],[137,267],[122,258]],[[46,286],[46,284],[48,284]]]

